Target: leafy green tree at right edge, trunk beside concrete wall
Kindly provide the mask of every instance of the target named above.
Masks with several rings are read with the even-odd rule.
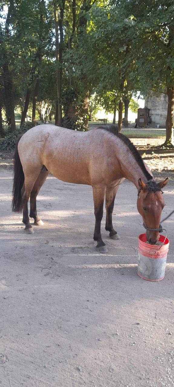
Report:
[[[126,46],[129,45],[128,60],[136,64],[140,79],[139,90],[164,92],[168,96],[166,140],[164,146],[174,147],[174,8],[172,0],[136,0],[116,2],[122,9],[121,25],[125,26]],[[135,67],[130,77],[135,74]]]

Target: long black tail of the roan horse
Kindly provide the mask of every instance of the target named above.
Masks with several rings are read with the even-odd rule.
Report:
[[[20,135],[16,142],[15,153],[14,153],[14,177],[13,177],[13,191],[12,191],[12,211],[22,212],[22,196],[21,190],[24,184],[24,172],[22,164],[20,162],[18,153],[18,143],[22,135]]]

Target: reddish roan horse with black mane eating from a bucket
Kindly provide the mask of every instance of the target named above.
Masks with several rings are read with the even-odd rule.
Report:
[[[12,211],[22,212],[25,233],[43,225],[36,210],[36,197],[48,174],[63,182],[92,186],[94,214],[96,218],[94,240],[99,252],[106,251],[101,236],[101,220],[106,199],[106,231],[110,238],[119,235],[113,228],[112,213],[119,185],[126,178],[138,190],[137,209],[147,228],[147,240],[151,244],[159,240],[159,225],[164,199],[162,188],[168,178],[156,183],[152,172],[142,157],[116,126],[105,126],[89,132],[38,125],[17,139],[14,154],[14,183]],[[28,201],[30,198],[30,214]]]

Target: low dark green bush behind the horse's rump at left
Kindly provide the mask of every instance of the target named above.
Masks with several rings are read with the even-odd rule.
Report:
[[[25,122],[22,128],[18,128],[14,133],[10,132],[10,128],[7,128],[5,137],[0,140],[0,151],[12,152],[14,151],[16,139],[20,134],[24,134],[27,130],[33,127],[32,122]]]

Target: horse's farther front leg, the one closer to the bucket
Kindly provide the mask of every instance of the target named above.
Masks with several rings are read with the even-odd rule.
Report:
[[[106,189],[106,231],[109,231],[109,236],[112,239],[120,239],[120,236],[113,228],[112,214],[114,209],[114,200],[118,191],[119,185],[113,188]]]

